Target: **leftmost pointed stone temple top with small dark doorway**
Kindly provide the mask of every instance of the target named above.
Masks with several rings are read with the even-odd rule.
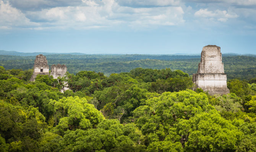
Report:
[[[36,56],[34,63],[34,72],[31,76],[30,81],[35,81],[37,74],[49,75],[49,65],[47,64],[46,57],[42,54]]]

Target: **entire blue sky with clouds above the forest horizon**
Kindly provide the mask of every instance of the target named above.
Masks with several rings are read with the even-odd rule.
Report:
[[[256,54],[256,0],[0,0],[0,50]]]

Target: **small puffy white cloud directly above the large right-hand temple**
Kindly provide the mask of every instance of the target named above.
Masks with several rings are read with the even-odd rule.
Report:
[[[226,22],[230,18],[237,18],[238,15],[235,13],[227,13],[227,11],[221,11],[219,9],[215,11],[209,11],[207,8],[206,9],[200,9],[199,11],[196,11],[194,13],[195,16],[197,17],[206,17],[206,18],[215,18],[218,21],[221,22]]]

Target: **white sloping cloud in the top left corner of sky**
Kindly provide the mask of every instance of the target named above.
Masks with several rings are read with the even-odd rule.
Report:
[[[31,22],[20,10],[13,8],[8,2],[0,1],[0,26],[2,29],[20,26],[37,26]]]

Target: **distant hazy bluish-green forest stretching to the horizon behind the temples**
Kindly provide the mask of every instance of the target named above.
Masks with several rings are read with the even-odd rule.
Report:
[[[134,68],[151,68],[181,70],[189,75],[197,72],[200,55],[74,55],[74,54],[48,54],[49,66],[52,64],[65,64],[69,73],[79,71],[103,72],[105,76],[111,73],[129,72]],[[35,56],[0,55],[0,65],[6,70],[32,69]],[[227,78],[249,80],[256,77],[255,55],[224,54],[222,57]]]

